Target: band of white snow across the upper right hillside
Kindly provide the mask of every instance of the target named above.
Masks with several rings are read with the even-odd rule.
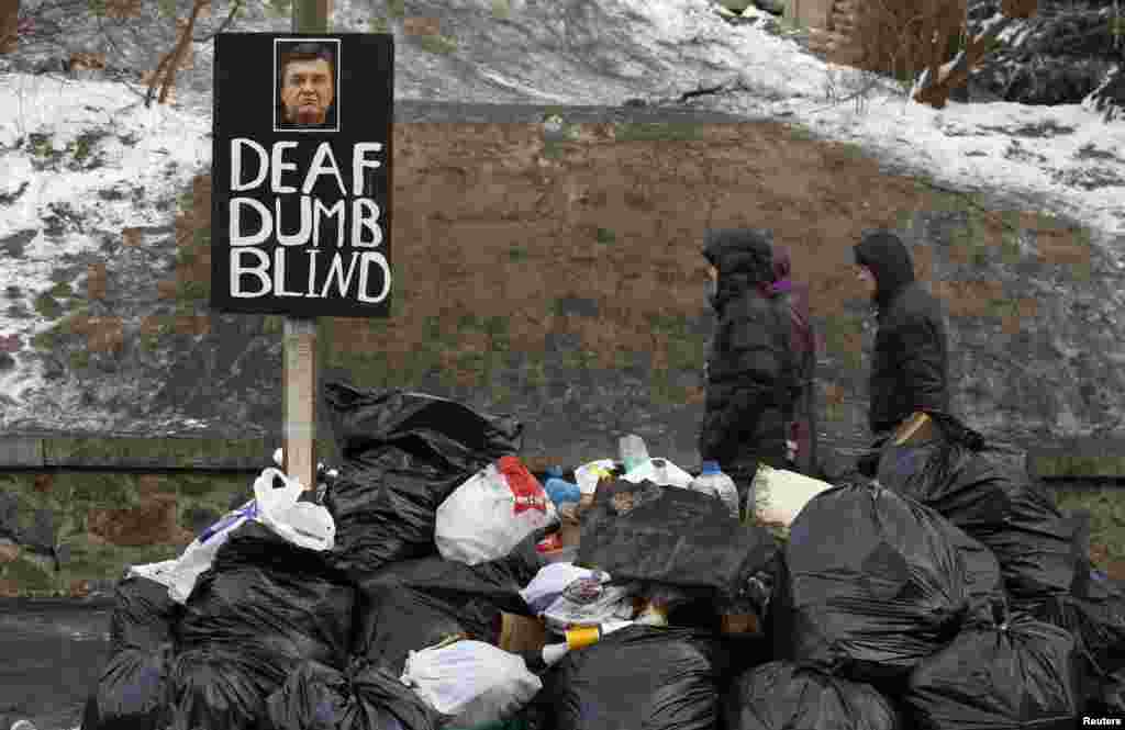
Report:
[[[1044,213],[1074,217],[1095,238],[1125,234],[1123,123],[1105,124],[1081,105],[951,101],[938,110],[909,101],[890,80],[879,81],[863,108],[854,101],[831,103],[830,85],[835,98],[845,98],[872,76],[825,63],[757,27],[731,27],[701,9],[705,0],[618,1],[634,6],[674,37],[714,40],[695,46],[700,56],[737,71],[741,85],[753,90],[723,97],[724,111],[798,123],[957,189],[1010,191],[1040,200],[1048,207]],[[669,18],[673,10],[692,21],[677,25]],[[1019,26],[1009,28],[1018,31]],[[1098,180],[1112,184],[1096,187]]]

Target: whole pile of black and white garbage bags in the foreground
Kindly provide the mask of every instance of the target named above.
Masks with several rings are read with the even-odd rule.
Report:
[[[118,583],[84,730],[1061,730],[1125,713],[1125,595],[1050,493],[964,432],[886,447],[874,480],[791,481],[778,534],[636,443],[548,490],[511,417],[399,389],[325,397],[334,476],[306,489],[267,469],[179,559]]]

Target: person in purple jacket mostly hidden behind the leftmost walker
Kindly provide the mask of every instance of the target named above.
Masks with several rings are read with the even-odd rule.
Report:
[[[809,289],[792,279],[793,262],[789,249],[774,246],[773,291],[789,308],[790,344],[796,360],[796,390],[789,417],[790,468],[812,476],[817,466],[816,371],[817,341],[809,313]]]

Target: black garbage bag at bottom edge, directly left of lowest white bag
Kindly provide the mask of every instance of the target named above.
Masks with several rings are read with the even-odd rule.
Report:
[[[434,730],[441,715],[396,675],[363,660],[300,665],[266,702],[269,730]]]

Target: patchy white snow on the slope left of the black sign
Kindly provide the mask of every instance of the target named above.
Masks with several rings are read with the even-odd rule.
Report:
[[[63,254],[96,251],[102,236],[119,237],[124,228],[170,225],[168,210],[154,204],[179,196],[210,161],[209,119],[155,103],[146,109],[119,83],[9,73],[0,75],[0,98],[6,100],[0,105],[0,196],[22,189],[12,202],[0,205],[0,241],[34,232],[24,258],[4,259],[2,285],[19,287],[26,299],[51,288],[51,272]],[[90,143],[90,160],[100,157],[102,164],[70,169],[74,155],[66,153],[52,169],[35,169],[33,162],[45,161],[45,146],[39,153],[29,151],[30,135],[46,135],[60,152],[90,133],[107,135]],[[15,148],[21,138],[24,145]],[[98,195],[110,189],[119,190],[122,199]],[[140,202],[133,199],[136,190],[143,191]],[[44,218],[52,208],[70,210],[81,225],[48,237]],[[0,308],[0,335],[18,335],[25,344],[50,325],[42,317],[12,318],[7,306]],[[0,395],[18,400],[25,389],[44,382],[36,369],[22,367],[19,353],[15,357],[17,367],[0,372]]]

